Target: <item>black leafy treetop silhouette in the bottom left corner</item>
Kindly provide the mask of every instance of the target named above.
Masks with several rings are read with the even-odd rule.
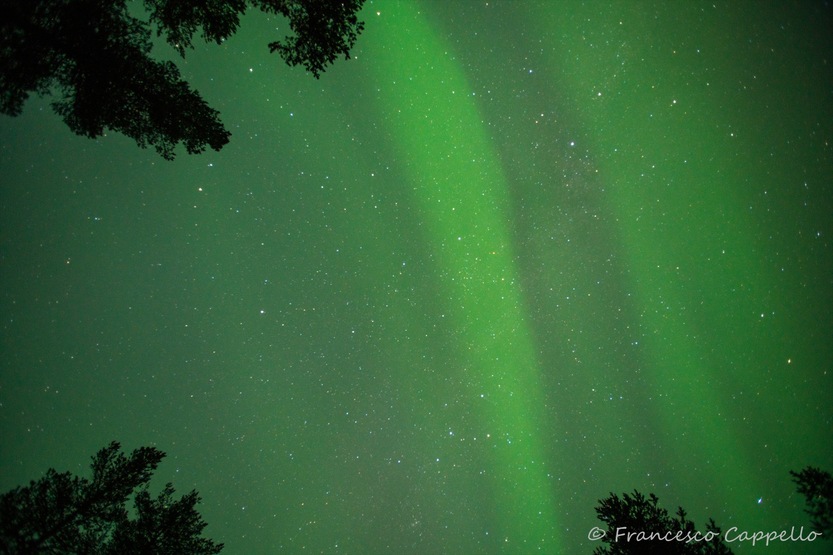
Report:
[[[220,553],[222,543],[200,537],[207,524],[194,508],[196,491],[178,501],[171,483],[156,499],[147,493],[165,453],[142,447],[127,458],[119,449],[112,442],[92,457],[92,482],[50,468],[46,477],[0,496],[0,553]],[[125,508],[132,494],[135,519]]]

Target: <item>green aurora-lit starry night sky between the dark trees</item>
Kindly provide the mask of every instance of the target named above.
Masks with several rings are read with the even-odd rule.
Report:
[[[2,491],[117,440],[167,453],[152,491],[196,488],[223,553],[590,553],[634,488],[809,529],[831,7],[361,18],[320,80],[268,52],[279,17],[195,42],[220,152],[74,136],[48,99],[0,118]]]

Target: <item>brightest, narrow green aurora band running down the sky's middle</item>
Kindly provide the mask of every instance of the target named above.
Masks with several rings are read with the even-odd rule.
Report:
[[[451,328],[467,361],[466,403],[491,468],[491,513],[506,552],[561,551],[541,445],[538,363],[517,280],[510,198],[459,64],[416,6],[383,4],[363,37],[385,124],[407,166]],[[489,540],[492,540],[489,538]],[[492,540],[494,541],[494,540]]]

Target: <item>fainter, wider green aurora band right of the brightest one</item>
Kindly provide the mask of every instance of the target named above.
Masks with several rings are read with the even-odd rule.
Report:
[[[752,469],[743,430],[731,424],[731,395],[754,395],[759,369],[744,369],[742,360],[741,369],[729,367],[731,356],[723,344],[730,334],[751,342],[746,338],[757,334],[758,324],[749,315],[764,303],[756,299],[731,307],[734,314],[745,314],[728,317],[743,320],[736,322],[743,326],[738,333],[721,321],[732,301],[710,293],[727,276],[734,281],[743,275],[740,281],[766,287],[766,275],[756,272],[756,256],[748,247],[755,239],[748,231],[753,229],[748,210],[741,206],[741,183],[728,181],[710,163],[717,159],[726,166],[721,136],[714,131],[723,116],[704,115],[709,113],[705,78],[691,91],[690,69],[651,60],[661,49],[652,41],[664,46],[684,39],[661,36],[651,27],[652,16],[632,17],[631,6],[606,7],[621,9],[571,4],[556,14],[545,6],[531,20],[548,39],[549,71],[574,99],[581,126],[604,130],[587,142],[610,193],[621,250],[632,270],[632,306],[638,315],[633,324],[641,331],[639,349],[650,365],[648,384],[676,481],[690,484],[696,505],[717,504],[747,526],[760,525],[764,518],[775,520],[776,509],[757,506],[764,478]],[[630,34],[620,31],[620,21]],[[626,40],[631,35],[648,38],[634,46]],[[641,63],[646,59],[652,63]],[[715,328],[722,337],[715,337]],[[715,353],[715,344],[724,357]],[[728,528],[731,521],[715,513]]]

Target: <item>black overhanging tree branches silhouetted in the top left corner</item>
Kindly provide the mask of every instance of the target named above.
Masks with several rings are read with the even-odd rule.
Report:
[[[338,56],[350,58],[364,28],[356,16],[364,0],[142,2],[147,22],[126,0],[0,0],[0,112],[18,116],[30,94],[57,92],[52,108],[77,135],[117,131],[167,160],[180,142],[189,154],[219,151],[231,133],[173,62],[150,56],[153,29],[185,57],[197,29],[220,44],[258,7],[287,17],[295,33],[269,50],[318,78]]]

